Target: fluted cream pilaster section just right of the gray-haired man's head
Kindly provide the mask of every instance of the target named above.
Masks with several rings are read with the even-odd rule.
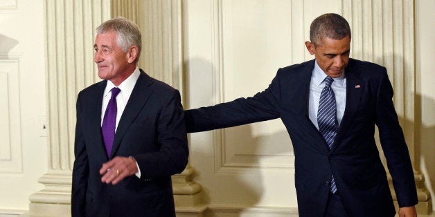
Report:
[[[177,88],[184,98],[181,0],[139,1],[136,21],[143,32],[139,66]]]

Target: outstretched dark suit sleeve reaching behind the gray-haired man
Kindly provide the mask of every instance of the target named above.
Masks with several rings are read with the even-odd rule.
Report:
[[[239,98],[232,102],[217,104],[186,111],[188,133],[222,129],[242,124],[250,124],[280,117],[281,68],[269,87],[254,97]]]

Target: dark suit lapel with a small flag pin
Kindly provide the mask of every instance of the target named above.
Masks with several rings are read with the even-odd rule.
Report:
[[[352,59],[349,59],[349,64],[346,68],[346,109],[344,109],[343,119],[341,120],[331,151],[337,149],[337,144],[341,142],[350,124],[353,122],[353,117],[358,110],[359,102],[361,102],[362,93],[364,93],[364,81],[359,77],[360,73]]]

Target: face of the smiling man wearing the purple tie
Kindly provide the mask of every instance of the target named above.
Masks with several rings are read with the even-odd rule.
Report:
[[[116,43],[115,31],[107,31],[98,34],[94,44],[94,62],[98,66],[98,77],[107,79],[116,86],[121,84],[128,76],[127,68],[130,67],[130,59]]]

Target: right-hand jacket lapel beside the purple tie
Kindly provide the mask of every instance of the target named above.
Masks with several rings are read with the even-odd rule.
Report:
[[[148,98],[152,94],[152,91],[148,86],[152,84],[152,79],[148,75],[146,75],[143,70],[141,70],[141,75],[137,79],[136,84],[134,85],[132,95],[130,95],[130,99],[125,106],[124,112],[121,115],[121,119],[118,123],[118,128],[116,129],[114,144],[112,147],[112,152],[110,153],[109,159],[114,157],[116,150],[118,150],[119,145],[121,144],[121,140],[127,129],[132,124],[136,116],[142,110],[145,102],[147,102]]]

